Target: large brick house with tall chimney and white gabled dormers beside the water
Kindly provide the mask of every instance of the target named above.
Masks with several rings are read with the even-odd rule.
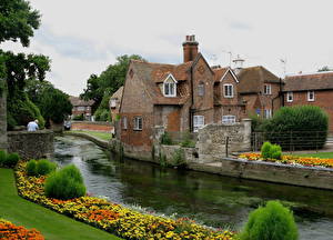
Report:
[[[240,121],[258,109],[272,114],[278,77],[263,67],[211,68],[198,44],[186,36],[181,64],[131,61],[118,130],[124,144],[151,151],[155,128],[195,132],[205,124]]]

